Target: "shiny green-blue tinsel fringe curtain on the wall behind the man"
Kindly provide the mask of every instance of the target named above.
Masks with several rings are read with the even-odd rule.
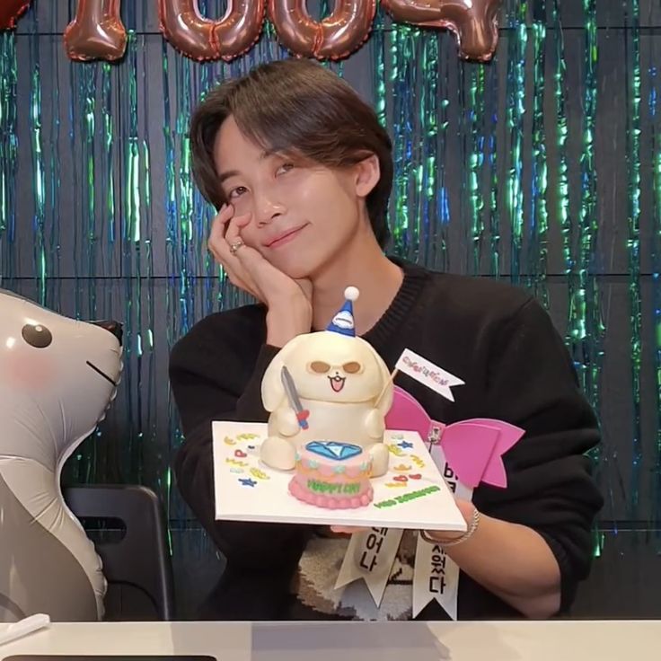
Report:
[[[245,57],[198,64],[158,33],[155,2],[126,2],[124,60],[72,63],[74,4],[34,0],[0,35],[0,282],[124,322],[121,392],[66,478],[143,482],[185,525],[168,353],[202,316],[244,301],[207,254],[213,212],[191,181],[189,117],[219,80],[287,56],[268,28]],[[225,6],[199,4],[209,16]],[[658,529],[661,9],[504,4],[488,66],[458,60],[444,31],[382,12],[366,46],[329,66],[394,138],[393,251],[531,288],[602,420],[604,520]]]

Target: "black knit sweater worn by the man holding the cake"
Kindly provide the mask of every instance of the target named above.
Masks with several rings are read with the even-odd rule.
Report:
[[[524,428],[524,437],[504,457],[507,489],[480,486],[473,502],[485,515],[527,525],[548,542],[560,565],[566,611],[577,582],[588,573],[591,528],[602,507],[584,456],[599,442],[598,425],[568,352],[548,314],[523,290],[487,278],[403,267],[400,291],[363,337],[391,369],[410,348],[463,379],[451,402],[407,375],[397,376],[395,383],[432,419],[447,424],[494,418]],[[175,473],[183,498],[227,560],[215,607],[219,619],[292,617],[290,586],[313,535],[307,526],[214,518],[212,420],[268,417],[260,382],[278,348],[265,344],[265,315],[261,305],[211,314],[172,350],[172,392],[186,439]],[[461,575],[459,619],[516,614]],[[423,618],[445,619],[445,613],[430,604]]]

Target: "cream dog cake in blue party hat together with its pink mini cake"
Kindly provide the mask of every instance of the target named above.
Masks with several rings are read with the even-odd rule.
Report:
[[[369,342],[357,336],[348,287],[345,304],[324,331],[290,339],[261,380],[269,411],[260,462],[293,472],[289,492],[318,507],[365,507],[370,480],[388,472],[383,443],[392,406],[392,375]]]

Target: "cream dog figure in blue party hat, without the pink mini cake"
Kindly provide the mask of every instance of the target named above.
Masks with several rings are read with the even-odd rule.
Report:
[[[326,331],[291,339],[264,374],[261,396],[270,416],[260,459],[271,468],[293,469],[296,449],[310,441],[337,441],[370,454],[372,477],[388,470],[383,432],[392,377],[375,349],[356,337],[356,287],[348,287],[345,296]]]

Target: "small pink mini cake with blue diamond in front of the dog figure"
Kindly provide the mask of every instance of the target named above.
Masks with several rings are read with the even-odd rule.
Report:
[[[355,509],[372,502],[372,458],[360,445],[313,441],[295,455],[289,492],[327,509]]]

